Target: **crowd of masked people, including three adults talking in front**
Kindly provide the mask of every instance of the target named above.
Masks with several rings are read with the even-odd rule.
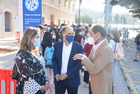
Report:
[[[28,27],[13,68],[16,94],[45,94],[48,89],[54,94],[53,88],[55,94],[78,94],[80,70],[89,94],[114,94],[118,60],[113,53],[120,36],[116,29],[106,34],[100,25]]]

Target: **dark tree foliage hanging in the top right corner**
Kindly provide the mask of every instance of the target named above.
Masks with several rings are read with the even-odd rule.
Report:
[[[111,5],[120,5],[129,9],[133,13],[133,17],[140,19],[140,0],[111,0]]]

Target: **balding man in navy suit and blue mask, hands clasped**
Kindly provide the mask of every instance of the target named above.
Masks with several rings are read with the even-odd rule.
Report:
[[[72,27],[64,27],[61,33],[64,40],[55,44],[52,58],[55,94],[65,94],[66,90],[68,94],[77,94],[80,85],[81,61],[74,61],[73,56],[77,53],[83,53],[83,47],[73,41],[74,31]]]

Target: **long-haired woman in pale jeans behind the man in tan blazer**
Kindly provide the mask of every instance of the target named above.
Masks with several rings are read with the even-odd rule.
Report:
[[[110,42],[110,45],[112,46],[114,54],[115,54],[116,49],[118,47],[117,45],[120,42],[120,35],[119,35],[117,30],[112,30],[110,33],[111,33],[110,35],[111,35],[111,37],[113,39],[113,41]],[[116,67],[117,67],[117,63],[118,63],[118,58],[116,58],[115,55],[114,55],[114,66],[113,66],[113,70],[114,70],[114,86],[115,86],[115,83],[116,83]]]

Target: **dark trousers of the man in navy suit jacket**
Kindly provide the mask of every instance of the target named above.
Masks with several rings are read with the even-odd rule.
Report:
[[[55,94],[65,94],[66,90],[68,94],[78,94],[78,87],[71,87],[68,83],[68,79],[58,81],[55,85]]]

